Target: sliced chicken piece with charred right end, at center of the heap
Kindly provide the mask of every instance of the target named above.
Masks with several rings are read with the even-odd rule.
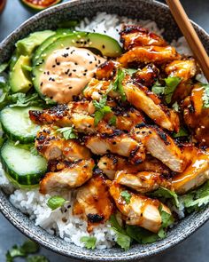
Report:
[[[131,163],[141,163],[145,158],[143,145],[119,130],[115,130],[112,135],[89,136],[86,138],[85,145],[96,155],[112,152],[129,157]]]

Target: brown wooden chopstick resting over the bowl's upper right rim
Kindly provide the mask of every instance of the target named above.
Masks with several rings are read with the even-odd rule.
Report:
[[[193,26],[190,23],[190,20],[184,11],[182,4],[179,0],[166,0],[170,11],[174,16],[174,20],[178,24],[179,28],[182,31],[183,36],[186,38],[190,49],[193,52],[195,58],[198,61],[198,64],[202,68],[207,81],[209,82],[209,58],[203,44],[201,43],[199,37]]]

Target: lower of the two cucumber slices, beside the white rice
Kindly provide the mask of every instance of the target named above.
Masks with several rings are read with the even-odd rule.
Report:
[[[47,170],[47,162],[41,155],[30,152],[32,145],[16,145],[7,140],[1,148],[4,171],[19,185],[36,185]]]

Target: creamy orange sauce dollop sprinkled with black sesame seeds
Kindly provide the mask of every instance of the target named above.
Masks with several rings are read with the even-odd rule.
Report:
[[[45,60],[40,90],[58,103],[67,103],[81,93],[104,61],[85,48],[56,50]]]

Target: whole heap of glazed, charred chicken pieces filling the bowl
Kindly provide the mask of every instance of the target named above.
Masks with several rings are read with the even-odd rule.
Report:
[[[124,225],[158,233],[159,207],[171,211],[147,195],[160,187],[182,195],[209,179],[205,86],[197,83],[196,60],[161,36],[125,25],[120,41],[123,54],[100,64],[74,101],[29,111],[42,125],[35,147],[48,161],[40,192],[73,189],[73,214],[87,221],[89,233],[119,211]],[[174,76],[181,78],[177,86],[163,86]],[[74,128],[76,139],[65,139],[58,127]]]

